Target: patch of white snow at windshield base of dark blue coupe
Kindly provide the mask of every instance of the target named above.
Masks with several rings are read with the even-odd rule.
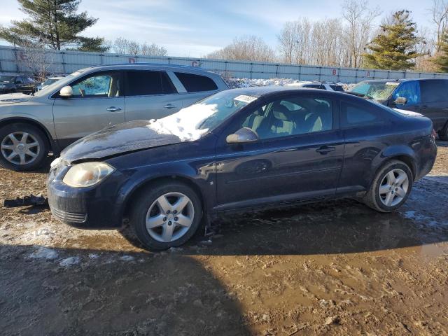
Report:
[[[181,141],[195,141],[209,130],[200,130],[200,125],[217,112],[217,104],[194,104],[171,116],[154,120],[148,127],[159,134],[173,134]]]

